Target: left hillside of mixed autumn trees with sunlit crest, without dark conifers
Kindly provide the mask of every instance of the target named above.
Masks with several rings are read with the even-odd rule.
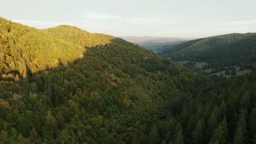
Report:
[[[0,25],[1,142],[130,143],[200,77],[110,35]]]

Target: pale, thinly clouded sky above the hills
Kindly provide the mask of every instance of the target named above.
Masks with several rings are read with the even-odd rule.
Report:
[[[0,16],[121,36],[202,38],[256,32],[256,0],[0,0]]]

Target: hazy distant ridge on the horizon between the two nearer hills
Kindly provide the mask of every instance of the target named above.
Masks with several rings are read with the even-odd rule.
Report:
[[[158,44],[158,43],[171,43],[174,41],[191,40],[188,38],[166,38],[166,37],[120,37],[124,40],[134,44]]]

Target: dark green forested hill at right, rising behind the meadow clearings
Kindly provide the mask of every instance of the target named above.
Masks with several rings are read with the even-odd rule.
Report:
[[[256,33],[232,33],[188,41],[160,55],[173,61],[207,62],[211,68],[256,61]]]

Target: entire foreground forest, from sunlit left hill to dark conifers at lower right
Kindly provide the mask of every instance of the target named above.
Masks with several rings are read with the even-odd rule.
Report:
[[[221,82],[123,39],[0,18],[0,143],[252,143],[255,73]]]

